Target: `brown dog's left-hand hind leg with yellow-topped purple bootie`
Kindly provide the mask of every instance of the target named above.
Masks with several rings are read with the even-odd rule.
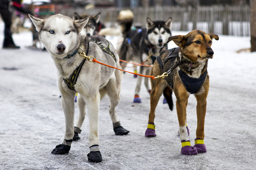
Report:
[[[163,93],[163,89],[164,89],[164,83],[160,83],[160,80],[154,80],[157,82],[152,82],[152,91],[150,94],[150,114],[148,116],[148,126],[147,126],[147,130],[145,132],[145,136],[146,137],[155,137],[155,124],[154,124],[154,120],[155,120],[155,109],[156,106],[158,105],[158,101],[160,99],[160,96]]]

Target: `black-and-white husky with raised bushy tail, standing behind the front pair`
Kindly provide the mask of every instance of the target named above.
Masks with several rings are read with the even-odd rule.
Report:
[[[155,57],[163,49],[167,49],[167,40],[171,36],[171,22],[172,19],[168,18],[165,22],[163,20],[152,21],[150,18],[146,20],[146,28],[136,28],[132,30],[133,18],[127,15],[127,12],[121,13],[118,16],[118,22],[121,27],[121,32],[124,37],[123,43],[119,50],[119,57],[125,61],[133,61],[142,63],[144,65],[152,65]],[[132,15],[133,16],[133,15]],[[122,68],[126,63],[121,62]],[[150,74],[150,67],[140,66],[139,74]],[[134,103],[141,103],[139,98],[139,91],[141,90],[142,77],[137,79],[135,88]],[[145,78],[144,84],[147,91],[150,93],[150,86],[148,78]]]

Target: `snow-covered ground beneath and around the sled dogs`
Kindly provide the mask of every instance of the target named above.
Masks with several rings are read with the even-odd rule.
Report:
[[[172,32],[173,35],[187,32]],[[56,86],[56,69],[48,52],[30,50],[30,32],[13,35],[21,49],[2,49],[0,23],[0,169],[255,169],[256,164],[256,53],[250,37],[221,36],[213,40],[209,60],[210,90],[205,120],[207,153],[180,154],[176,108],[171,112],[160,99],[156,108],[155,138],[144,137],[150,95],[141,88],[141,104],[134,104],[136,79],[123,74],[118,118],[126,136],[116,136],[108,113],[109,100],[100,105],[100,148],[103,161],[89,163],[88,117],[80,141],[67,155],[51,151],[63,142],[64,114]],[[113,44],[115,39],[110,39]],[[174,46],[170,42],[170,48]],[[94,63],[97,64],[97,63]],[[174,96],[174,101],[176,101]],[[78,108],[76,105],[76,117]],[[196,100],[187,107],[190,139],[196,138]]]

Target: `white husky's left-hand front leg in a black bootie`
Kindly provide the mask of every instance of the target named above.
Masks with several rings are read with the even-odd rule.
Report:
[[[61,93],[61,105],[65,115],[65,135],[64,141],[61,145],[57,145],[53,149],[52,154],[68,154],[72,138],[74,135],[73,131],[73,122],[74,122],[74,113],[75,113],[75,103],[74,103],[75,92],[70,94],[63,92]]]

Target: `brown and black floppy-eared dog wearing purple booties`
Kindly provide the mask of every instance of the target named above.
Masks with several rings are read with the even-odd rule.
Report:
[[[153,76],[168,73],[168,76],[163,79],[151,79],[150,114],[145,135],[146,137],[156,136],[154,125],[156,105],[163,93],[172,111],[174,106],[172,91],[174,91],[177,99],[181,154],[184,155],[196,155],[198,152],[207,151],[204,145],[204,120],[209,91],[207,64],[208,59],[213,58],[213,50],[210,48],[212,39],[218,40],[218,36],[200,30],[189,32],[184,36],[169,37],[167,42],[174,41],[179,47],[160,53],[150,73]],[[193,147],[189,141],[189,131],[186,126],[186,108],[190,94],[194,94],[197,100],[197,129]]]

